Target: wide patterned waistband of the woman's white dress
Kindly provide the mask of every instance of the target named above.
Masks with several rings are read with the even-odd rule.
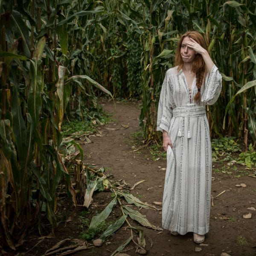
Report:
[[[179,117],[179,116],[189,116],[189,117],[198,117],[198,116],[204,116],[206,114],[205,107],[204,106],[184,106],[175,108],[172,111],[172,116]]]

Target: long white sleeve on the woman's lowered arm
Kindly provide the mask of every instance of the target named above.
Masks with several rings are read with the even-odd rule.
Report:
[[[168,74],[163,80],[163,85],[160,93],[160,99],[157,109],[157,131],[169,131],[170,122],[172,119],[172,108],[169,103],[170,99],[170,84],[171,81],[168,79]]]

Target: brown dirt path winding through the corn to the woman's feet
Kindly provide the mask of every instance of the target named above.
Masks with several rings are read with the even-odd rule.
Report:
[[[113,105],[105,103],[105,110],[113,112]],[[165,160],[151,160],[148,150],[140,154],[133,152],[130,142],[131,134],[140,131],[138,117],[140,109],[137,103],[116,103],[115,121],[99,129],[102,137],[90,137],[93,143],[84,146],[84,152],[90,163],[97,166],[109,167],[109,172],[114,175],[114,180],[125,179],[127,183],[134,184],[145,179],[133,190],[133,194],[140,197],[141,201],[152,204],[153,201],[162,201],[165,171]],[[127,129],[111,130],[113,128]],[[111,129],[109,129],[111,128]],[[204,242],[205,246],[198,246],[193,242],[192,233],[185,236],[172,236],[167,230],[157,234],[158,231],[146,229],[145,233],[152,240],[153,245],[147,255],[221,255],[226,252],[233,256],[256,255],[256,212],[252,212],[251,219],[242,218],[244,213],[250,212],[247,207],[256,208],[256,179],[253,177],[224,177],[213,172],[215,179],[212,182],[212,196],[225,191],[213,201],[211,210],[210,231]],[[236,187],[236,184],[245,183],[246,188]],[[102,196],[96,196],[95,202]],[[110,199],[109,199],[110,200]],[[161,227],[161,212],[149,209],[140,211],[149,221]],[[111,255],[119,244],[130,235],[129,231],[119,230],[109,239],[111,244],[103,245],[90,252],[90,255]],[[241,245],[244,239],[247,245]],[[113,244],[114,241],[117,241]],[[245,243],[245,242],[244,242]],[[150,244],[148,242],[148,244]],[[127,253],[138,255],[132,244]],[[195,252],[195,247],[201,247],[201,252]],[[81,254],[82,255],[82,254]],[[89,255],[89,254],[88,254]]]

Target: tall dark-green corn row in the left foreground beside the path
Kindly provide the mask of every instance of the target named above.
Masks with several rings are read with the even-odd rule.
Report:
[[[0,251],[16,250],[26,231],[44,213],[57,225],[56,191],[64,178],[75,191],[62,154],[61,123],[71,85],[87,80],[109,93],[78,68],[69,56],[68,22],[102,12],[71,13],[73,1],[0,2]],[[79,4],[78,2],[77,4]],[[72,66],[73,65],[73,66]],[[71,67],[70,67],[71,66]],[[73,68],[73,70],[72,70]],[[70,73],[72,71],[72,75]],[[110,93],[109,93],[110,94]],[[66,164],[66,165],[65,165]],[[70,166],[70,163],[68,163]]]

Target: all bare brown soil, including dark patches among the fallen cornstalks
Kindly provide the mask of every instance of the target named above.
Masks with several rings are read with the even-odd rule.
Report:
[[[111,102],[102,102],[105,111],[113,113],[114,107]],[[162,157],[159,160],[152,160],[152,155],[147,148],[134,152],[141,141],[136,141],[133,134],[140,131],[139,128],[140,104],[139,102],[116,102],[116,109],[113,115],[113,122],[98,128],[96,134],[90,137],[92,143],[84,144],[85,162],[96,166],[105,167],[106,173],[113,175],[111,180],[125,180],[133,185],[140,180],[146,180],[135,187],[131,193],[141,201],[152,204],[154,201],[161,202],[165,171],[161,170],[166,166],[166,160]],[[247,170],[243,166],[232,173],[222,173],[219,169],[224,164],[214,164],[210,231],[206,235],[204,245],[195,244],[193,234],[185,236],[172,236],[169,231],[159,233],[157,230],[143,228],[146,234],[149,256],[220,256],[221,253],[228,253],[231,256],[256,256],[256,211],[250,211],[248,207],[256,208],[256,179],[250,176],[243,176],[246,172],[253,174],[253,170]],[[216,172],[215,172],[216,171]],[[230,170],[229,170],[230,171]],[[241,177],[238,177],[242,175]],[[236,184],[244,183],[246,187],[236,187]],[[87,209],[87,217],[90,221],[93,215],[101,212],[111,201],[111,192],[96,192],[93,196],[93,203]],[[78,206],[73,209],[71,204],[59,199],[59,214],[69,221],[60,222],[54,238],[44,238],[30,234],[23,247],[16,255],[43,255],[58,241],[67,238],[81,239],[83,224],[81,213],[85,210]],[[155,226],[161,227],[161,211],[152,209],[140,209],[143,215]],[[245,213],[251,212],[252,218],[244,219]],[[112,221],[122,215],[119,208],[113,209]],[[132,221],[131,221],[132,222]],[[135,222],[135,221],[134,221]],[[137,223],[134,223],[137,226]],[[91,247],[72,255],[82,256],[110,256],[122,242],[131,235],[127,224],[110,236],[102,247]],[[98,238],[98,237],[96,237]],[[106,244],[107,242],[107,244]],[[152,242],[152,246],[151,246]],[[201,252],[195,252],[200,247]],[[130,256],[139,255],[135,253],[136,248],[131,242],[125,247],[125,253]],[[58,255],[58,254],[55,254]]]

